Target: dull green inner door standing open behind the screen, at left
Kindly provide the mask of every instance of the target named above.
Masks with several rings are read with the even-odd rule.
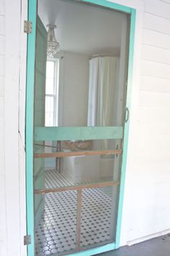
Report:
[[[37,16],[37,35],[35,51],[35,106],[34,125],[45,126],[45,82],[46,82],[46,60],[47,60],[47,40],[48,33],[40,17]],[[44,187],[45,184],[45,159],[35,159],[34,161],[34,187]],[[45,207],[45,196],[35,196],[35,229],[40,223]]]

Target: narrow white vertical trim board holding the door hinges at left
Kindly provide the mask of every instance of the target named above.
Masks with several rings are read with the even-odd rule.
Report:
[[[27,20],[27,0],[21,1],[20,20],[20,58],[19,58],[19,213],[20,213],[20,255],[27,256],[27,247],[23,245],[23,236],[27,234],[26,222],[26,190],[25,190],[25,95],[26,95],[26,65],[27,65],[27,34],[22,33],[24,20]]]

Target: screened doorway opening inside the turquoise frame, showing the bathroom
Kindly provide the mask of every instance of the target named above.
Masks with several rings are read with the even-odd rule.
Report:
[[[39,0],[36,24],[35,255],[114,249],[130,14],[84,1]],[[55,41],[49,50],[49,24],[58,49]]]

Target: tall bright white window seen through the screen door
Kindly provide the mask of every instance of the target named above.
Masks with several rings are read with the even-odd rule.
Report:
[[[45,85],[45,127],[58,125],[59,59],[48,60]]]

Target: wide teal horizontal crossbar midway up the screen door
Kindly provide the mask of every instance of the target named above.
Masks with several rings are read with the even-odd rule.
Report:
[[[35,127],[35,141],[122,139],[122,127]]]

